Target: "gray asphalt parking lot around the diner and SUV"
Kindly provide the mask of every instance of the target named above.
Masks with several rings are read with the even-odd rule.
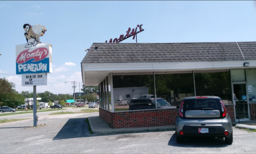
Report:
[[[188,138],[176,143],[174,131],[89,134],[85,119],[99,116],[67,114],[0,124],[0,153],[255,153],[256,133],[234,128],[234,142]]]

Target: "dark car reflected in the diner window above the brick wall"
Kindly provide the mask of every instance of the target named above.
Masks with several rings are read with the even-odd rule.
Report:
[[[162,98],[156,98],[156,107],[157,109],[176,108]],[[155,99],[133,99],[130,102],[129,110],[156,109],[156,107]]]

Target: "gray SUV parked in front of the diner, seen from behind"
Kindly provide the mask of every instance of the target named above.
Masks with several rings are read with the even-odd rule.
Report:
[[[176,141],[183,142],[185,136],[212,136],[225,139],[232,144],[232,123],[226,106],[217,96],[195,96],[182,100],[176,118]]]

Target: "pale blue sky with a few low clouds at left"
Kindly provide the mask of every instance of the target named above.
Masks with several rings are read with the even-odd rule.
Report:
[[[53,71],[36,92],[73,94],[82,88],[81,61],[93,43],[125,35],[143,25],[138,43],[254,42],[255,1],[0,1],[0,78],[21,86],[16,45],[26,44],[23,25],[46,27]],[[121,43],[136,43],[132,37]],[[65,83],[67,82],[67,83]]]

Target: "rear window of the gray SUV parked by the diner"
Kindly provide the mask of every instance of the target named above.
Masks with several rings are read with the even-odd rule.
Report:
[[[184,100],[185,118],[220,118],[222,114],[220,99]]]

